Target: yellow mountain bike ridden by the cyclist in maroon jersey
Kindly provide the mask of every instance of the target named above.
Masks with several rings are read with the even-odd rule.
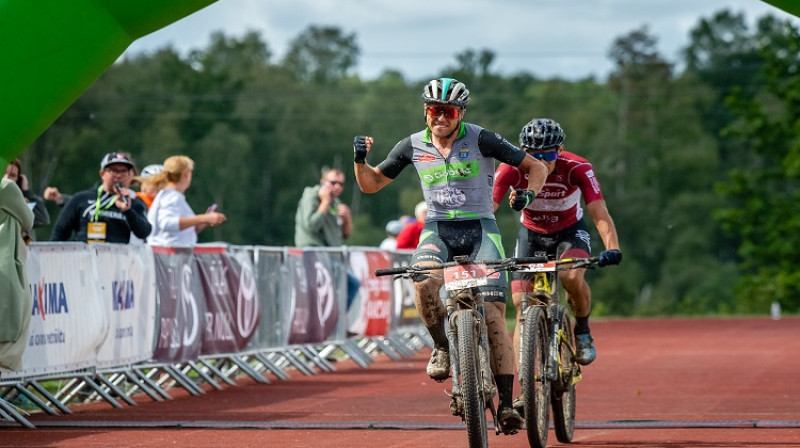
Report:
[[[543,260],[517,265],[517,273],[531,273],[531,291],[523,295],[520,316],[520,371],[528,443],[544,448],[553,409],[553,427],[561,443],[572,442],[575,429],[575,385],[581,367],[575,359],[574,322],[558,298],[558,272],[593,269],[598,257]]]

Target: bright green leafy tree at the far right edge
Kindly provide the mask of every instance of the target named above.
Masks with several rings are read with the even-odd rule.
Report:
[[[741,143],[746,168],[734,168],[719,191],[729,200],[718,211],[725,230],[739,241],[742,277],[739,311],[764,312],[779,301],[800,310],[800,34],[787,21],[759,21],[761,76],[756,94],[735,89],[728,105],[736,117],[726,135]]]

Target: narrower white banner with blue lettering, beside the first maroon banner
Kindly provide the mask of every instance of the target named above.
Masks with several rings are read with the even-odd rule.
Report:
[[[99,367],[145,361],[153,356],[156,283],[153,252],[144,244],[93,244],[101,301],[109,331],[97,354]]]

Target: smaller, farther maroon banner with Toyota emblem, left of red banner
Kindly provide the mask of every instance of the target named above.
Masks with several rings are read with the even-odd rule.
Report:
[[[339,318],[337,291],[345,281],[344,266],[334,258],[341,254],[289,249],[287,263],[292,278],[289,306],[289,344],[325,341]]]

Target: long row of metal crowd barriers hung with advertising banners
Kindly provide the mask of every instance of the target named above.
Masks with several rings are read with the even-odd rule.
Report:
[[[23,369],[0,379],[0,418],[34,427],[20,402],[52,415],[134,394],[204,394],[246,375],[260,383],[368,367],[430,347],[408,279],[375,277],[408,251],[200,244],[32,243]],[[361,282],[347,307],[347,272]],[[55,385],[55,386],[54,386]],[[15,405],[17,404],[17,405]],[[1,420],[0,419],[0,420]]]

